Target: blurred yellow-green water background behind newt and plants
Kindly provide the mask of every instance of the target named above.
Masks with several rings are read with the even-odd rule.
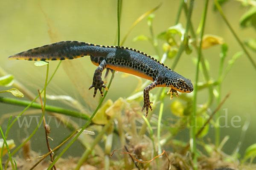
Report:
[[[122,16],[121,16],[121,41],[122,37],[127,33],[128,29],[134,23],[134,21],[140,17],[141,14],[156,7],[162,3],[162,6],[154,12],[155,18],[153,20],[153,29],[155,34],[160,34],[166,31],[167,28],[175,24],[175,18],[180,1],[178,0],[124,0],[122,4]],[[246,7],[241,6],[241,3],[237,1],[229,1],[222,6],[227,19],[230,21],[232,27],[239,35],[241,40],[247,40],[251,37],[256,37],[255,30],[253,28],[241,28],[239,26],[239,19],[245,11]],[[41,10],[42,9],[42,10]],[[44,12],[43,12],[44,11]],[[195,7],[192,13],[192,23],[196,29],[203,11],[203,1],[196,1]],[[90,42],[99,45],[116,45],[116,31],[117,31],[117,18],[116,18],[116,1],[92,1],[92,0],[76,0],[76,1],[63,1],[63,0],[1,0],[0,1],[0,67],[2,67],[9,74],[13,74],[15,79],[23,83],[34,94],[37,94],[37,89],[41,89],[44,86],[45,79],[45,67],[35,67],[33,62],[28,61],[16,61],[7,60],[12,54],[19,53],[21,51],[35,48],[41,45],[49,44],[50,38],[48,34],[49,27],[47,25],[46,17],[44,13],[49,17],[49,20],[54,23],[61,34],[61,40],[78,40],[84,42]],[[184,13],[181,15],[180,23],[183,27],[186,25],[186,17]],[[137,35],[145,34],[150,36],[147,21],[144,19],[140,22],[128,36],[124,46],[138,49],[150,55],[155,55],[154,48],[149,42],[137,41],[133,39]],[[237,51],[242,51],[238,42],[235,40],[230,30],[227,28],[223,19],[218,11],[213,11],[213,1],[209,2],[209,10],[207,13],[207,21],[205,27],[205,34],[214,34],[224,38],[224,41],[228,45],[227,59],[224,65],[227,66],[227,61],[233,57]],[[162,51],[163,41],[160,42],[160,51]],[[221,46],[216,45],[211,48],[203,50],[204,57],[209,61],[210,71],[209,74],[212,79],[218,77],[219,67],[219,54],[221,52]],[[255,58],[255,52],[250,51],[251,56]],[[195,82],[195,65],[192,63],[192,57],[197,57],[197,53],[193,50],[192,54],[183,56],[180,58],[175,71],[183,75],[186,78]],[[66,61],[64,61],[66,62]],[[172,60],[167,60],[166,65],[171,66]],[[84,88],[87,89],[91,85],[93,73],[96,66],[90,62],[89,57],[72,60],[74,65],[81,64],[84,68],[82,77],[77,81],[84,83]],[[50,74],[55,69],[58,62],[50,62]],[[53,81],[51,82],[47,94],[53,95],[69,95],[75,99],[78,99],[81,103],[84,103],[79,96],[76,88],[71,80],[67,77],[64,69],[61,67]],[[81,69],[82,70],[82,69]],[[245,139],[241,146],[241,154],[250,145],[255,143],[256,135],[256,74],[253,65],[249,59],[242,55],[233,68],[228,73],[222,84],[222,98],[224,95],[231,91],[230,97],[222,106],[220,113],[225,114],[223,109],[227,108],[227,122],[230,127],[221,128],[221,139],[224,136],[230,136],[227,144],[224,146],[226,153],[232,153],[233,148],[236,147],[241,133],[241,127],[246,120],[250,121],[250,126],[246,131]],[[72,73],[71,73],[72,74]],[[73,73],[76,74],[76,73]],[[115,75],[112,86],[108,93],[107,98],[113,101],[119,97],[128,97],[131,92],[137,87],[137,79],[135,77],[122,78],[122,73]],[[201,76],[200,76],[201,77]],[[202,80],[200,78],[200,80]],[[9,88],[0,87],[0,90]],[[157,90],[151,91],[156,93]],[[94,105],[97,103],[97,99],[92,99],[93,91],[88,91],[88,100]],[[97,94],[99,95],[99,94]],[[2,96],[2,94],[1,94]],[[3,96],[10,96],[10,94],[3,94]],[[207,99],[207,90],[200,91],[198,93],[198,104],[204,103]],[[98,96],[99,97],[99,96]],[[55,102],[49,101],[50,104]],[[170,100],[165,100],[165,116],[170,113],[169,104]],[[141,103],[142,104],[142,103]],[[56,105],[65,107],[64,103]],[[158,106],[159,107],[159,106]],[[217,107],[215,101],[212,105],[212,111]],[[11,113],[13,111],[20,111],[22,107],[5,105],[0,103],[0,115]],[[154,113],[157,114],[158,109],[154,109]],[[40,113],[40,111],[38,111]],[[233,116],[240,116],[241,122],[235,122],[238,128],[232,128],[230,121]],[[4,120],[3,125],[8,121]],[[221,119],[221,125],[224,125],[225,120]],[[2,125],[1,125],[2,126]],[[5,126],[3,126],[5,130]],[[42,130],[42,129],[41,129]],[[61,134],[68,133],[63,128],[63,133],[52,131],[51,136],[56,135],[61,137]],[[17,137],[17,131],[24,136],[18,136],[18,140],[26,136],[23,131],[12,128],[13,135],[9,135],[9,139]],[[30,132],[30,130],[27,130]],[[43,130],[41,131],[43,132]],[[38,132],[39,133],[39,132]],[[183,134],[180,134],[182,136]],[[184,133],[182,138],[188,139],[189,133]],[[214,142],[214,129],[210,128],[209,138]],[[44,136],[42,138],[42,145],[44,145]],[[35,137],[40,141],[39,137]],[[58,140],[58,139],[56,139]],[[56,141],[55,141],[56,142]],[[38,143],[40,144],[40,142]],[[32,150],[38,150],[36,146],[38,144],[32,143]],[[72,146],[76,148],[76,146]],[[43,150],[42,148],[40,150]],[[79,152],[79,151],[78,151]]]

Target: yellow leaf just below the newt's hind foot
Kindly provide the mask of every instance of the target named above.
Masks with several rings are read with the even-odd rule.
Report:
[[[113,105],[113,101],[111,99],[108,99],[104,105],[102,105],[101,108],[97,111],[96,115],[93,117],[92,121],[93,123],[97,125],[106,125],[108,123],[108,120],[110,117],[106,115],[106,110]]]

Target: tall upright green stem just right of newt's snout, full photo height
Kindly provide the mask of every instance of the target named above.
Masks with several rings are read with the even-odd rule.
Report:
[[[190,7],[192,8],[193,2],[190,1]],[[194,100],[193,100],[193,110],[192,110],[192,129],[190,130],[191,136],[190,136],[190,146],[191,146],[191,151],[193,153],[193,166],[194,169],[197,170],[197,156],[196,156],[196,129],[195,129],[195,118],[196,118],[196,101],[197,101],[197,91],[198,91],[198,77],[199,77],[199,63],[201,61],[201,48],[202,48],[202,39],[204,35],[204,26],[205,26],[205,19],[206,19],[206,14],[207,14],[207,7],[208,7],[208,0],[205,2],[204,6],[204,13],[203,13],[203,21],[202,21],[202,31],[201,31],[201,39],[200,39],[200,44],[199,44],[199,49],[198,49],[198,62],[197,62],[197,68],[196,68],[196,75],[195,75],[195,88],[194,88]]]

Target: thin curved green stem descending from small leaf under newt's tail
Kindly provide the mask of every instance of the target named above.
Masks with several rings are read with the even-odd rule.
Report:
[[[12,156],[13,156],[24,144],[26,144],[26,142],[28,142],[29,139],[32,138],[32,136],[34,136],[35,132],[38,130],[39,126],[41,125],[41,122],[42,122],[43,117],[44,117],[45,105],[46,105],[46,102],[45,102],[45,101],[46,101],[46,87],[47,87],[47,84],[48,84],[48,83],[47,83],[48,74],[49,74],[49,63],[47,64],[46,78],[45,78],[45,84],[44,84],[44,111],[43,111],[43,113],[42,113],[41,119],[40,119],[40,121],[39,121],[37,127],[35,128],[35,130],[29,135],[29,137],[28,137],[22,144],[20,144],[20,145],[12,152]],[[38,96],[39,96],[39,94],[38,94]],[[27,108],[28,108],[28,106],[27,106]],[[24,113],[24,111],[23,111],[23,113]],[[12,124],[11,124],[11,125],[12,125]],[[5,169],[7,169],[8,161],[9,161],[9,159],[7,160]]]

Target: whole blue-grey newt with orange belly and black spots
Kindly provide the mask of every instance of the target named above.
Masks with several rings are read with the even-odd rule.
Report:
[[[145,116],[148,115],[148,108],[152,111],[152,102],[149,100],[149,91],[151,89],[155,87],[169,87],[168,94],[171,93],[170,99],[172,99],[174,93],[178,96],[177,91],[182,93],[193,91],[190,79],[177,74],[162,62],[154,59],[154,57],[129,47],[95,45],[79,41],[62,41],[32,48],[28,51],[12,55],[8,59],[50,61],[76,59],[84,56],[90,56],[91,62],[98,66],[93,75],[93,83],[89,88],[89,90],[94,88],[93,97],[96,96],[98,89],[101,96],[103,96],[102,88],[108,90],[104,84],[105,81],[102,80],[102,71],[105,69],[107,69],[106,76],[109,71],[116,70],[151,80],[152,83],[143,90],[144,104],[141,111],[146,110]]]

